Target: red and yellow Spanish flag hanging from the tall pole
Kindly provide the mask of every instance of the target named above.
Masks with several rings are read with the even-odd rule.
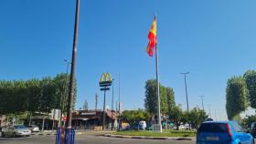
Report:
[[[153,57],[154,56],[154,47],[156,45],[156,17],[154,18],[153,24],[149,30],[148,33],[148,45],[146,47],[146,52],[148,56]]]

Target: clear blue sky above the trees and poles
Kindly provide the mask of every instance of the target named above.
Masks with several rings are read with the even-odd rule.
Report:
[[[256,66],[256,1],[247,0],[80,0],[77,58],[78,99],[95,107],[99,78],[121,74],[124,108],[144,108],[144,84],[155,78],[147,34],[157,13],[160,81],[173,87],[186,108],[184,78],[189,71],[189,106],[226,118],[229,77]],[[0,78],[29,79],[66,71],[71,59],[75,0],[0,1]],[[115,89],[117,90],[117,83]],[[115,90],[115,94],[117,94]],[[111,91],[107,105],[111,105]],[[115,95],[115,98],[117,95]]]

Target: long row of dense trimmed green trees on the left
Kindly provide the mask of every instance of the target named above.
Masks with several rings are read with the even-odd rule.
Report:
[[[48,113],[68,106],[69,75],[29,80],[0,80],[0,114]],[[77,96],[75,81],[74,103]]]

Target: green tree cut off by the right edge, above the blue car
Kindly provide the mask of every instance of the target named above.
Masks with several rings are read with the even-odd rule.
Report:
[[[251,108],[256,108],[256,71],[248,70],[243,77],[249,90],[248,99]]]

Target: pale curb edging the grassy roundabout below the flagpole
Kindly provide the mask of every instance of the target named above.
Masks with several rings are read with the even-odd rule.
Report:
[[[110,138],[122,138],[122,139],[172,139],[172,140],[195,140],[193,138],[185,138],[185,137],[144,137],[144,136],[122,136],[122,135],[112,135],[105,134],[104,137]]]

